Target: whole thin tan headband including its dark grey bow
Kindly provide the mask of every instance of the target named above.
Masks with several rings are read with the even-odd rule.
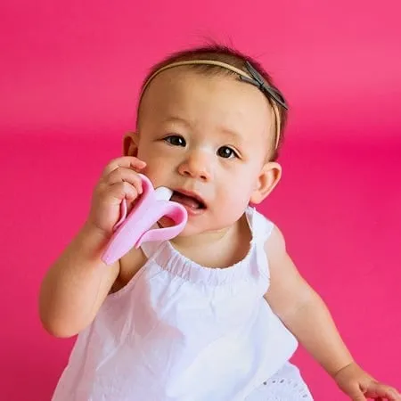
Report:
[[[277,104],[280,104],[284,109],[288,110],[287,103],[285,102],[284,98],[282,97],[282,94],[280,94],[274,87],[269,86],[266,84],[265,79],[258,73],[257,70],[255,70],[252,65],[250,64],[249,61],[246,61],[245,66],[248,70],[249,73],[246,73],[245,71],[242,71],[236,67],[234,67],[231,64],[227,64],[226,62],[222,61],[215,61],[215,60],[187,60],[187,61],[176,61],[172,62],[164,67],[161,67],[159,70],[156,70],[150,78],[144,83],[141,97],[143,96],[144,91],[146,88],[149,86],[151,83],[151,80],[155,78],[157,75],[160,74],[160,72],[163,72],[165,70],[172,69],[174,67],[180,67],[184,65],[216,65],[218,67],[221,67],[225,70],[230,70],[235,72],[240,76],[241,81],[248,82],[251,85],[257,86],[263,94],[266,95],[267,100],[271,104],[273,110],[274,110],[274,118],[275,118],[275,126],[276,126],[276,139],[275,139],[275,149],[278,148],[278,144],[280,141],[280,112],[278,110]]]

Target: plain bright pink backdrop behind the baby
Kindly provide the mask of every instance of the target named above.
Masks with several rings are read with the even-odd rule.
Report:
[[[257,56],[291,102],[284,179],[261,210],[365,369],[401,388],[398,0],[6,0],[0,5],[0,394],[44,401],[71,340],[38,286],[133,127],[151,63],[204,37]],[[316,400],[338,401],[300,349]]]

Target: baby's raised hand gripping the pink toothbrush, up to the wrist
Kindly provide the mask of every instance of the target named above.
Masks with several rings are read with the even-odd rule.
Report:
[[[86,224],[110,235],[120,217],[121,202],[130,204],[142,193],[142,180],[137,171],[146,163],[135,157],[125,156],[111,160],[94,188],[92,207]]]

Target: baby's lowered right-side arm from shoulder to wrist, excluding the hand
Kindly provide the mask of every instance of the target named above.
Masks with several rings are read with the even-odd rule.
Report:
[[[274,227],[266,242],[270,287],[266,300],[299,342],[331,375],[353,362],[319,295],[299,274]]]

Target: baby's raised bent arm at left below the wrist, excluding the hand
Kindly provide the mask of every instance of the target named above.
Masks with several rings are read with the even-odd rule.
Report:
[[[54,336],[73,336],[91,323],[118,277],[119,262],[106,266],[101,260],[107,241],[85,225],[45,275],[39,313]]]

